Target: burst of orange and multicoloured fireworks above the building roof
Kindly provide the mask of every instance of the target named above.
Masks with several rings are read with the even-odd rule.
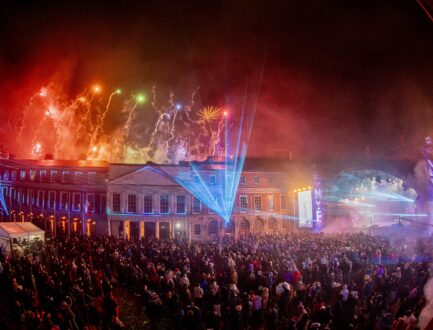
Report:
[[[223,113],[217,107],[195,112],[198,88],[189,102],[175,97],[173,91],[168,99],[159,101],[156,87],[152,88],[150,105],[156,116],[149,111],[137,111],[141,107],[146,109],[145,94],[124,97],[121,103],[116,102],[116,106],[122,106],[115,109],[112,100],[121,97],[121,90],[107,95],[105,104],[99,96],[103,93],[100,85],[79,93],[72,100],[65,99],[61,90],[49,84],[23,107],[22,113],[28,118],[20,122],[23,141],[20,150],[26,153],[19,156],[43,158],[49,153],[56,159],[176,163],[204,160],[221,149]],[[215,133],[212,127],[209,133],[208,125],[215,126]]]

